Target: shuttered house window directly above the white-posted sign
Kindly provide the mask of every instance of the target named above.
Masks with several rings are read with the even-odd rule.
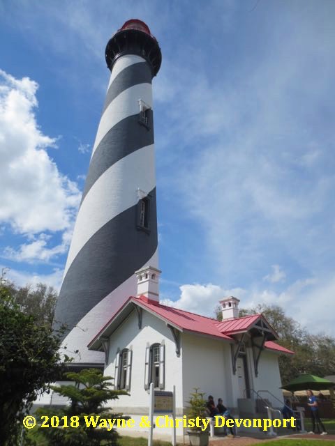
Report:
[[[145,351],[144,388],[149,389],[154,383],[155,389],[164,389],[165,386],[165,346],[153,344]]]

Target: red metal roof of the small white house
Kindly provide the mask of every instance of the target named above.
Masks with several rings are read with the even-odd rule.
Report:
[[[128,306],[130,302],[139,305],[148,312],[156,314],[158,317],[162,318],[168,323],[171,323],[176,328],[181,330],[186,330],[198,334],[204,334],[211,337],[217,337],[219,339],[225,339],[227,341],[232,341],[233,338],[231,334],[236,332],[247,331],[248,328],[255,323],[258,318],[264,318],[262,314],[253,314],[251,316],[245,316],[243,318],[231,319],[230,321],[218,322],[214,318],[208,318],[206,316],[200,316],[200,314],[195,314],[191,312],[186,312],[183,309],[168,307],[166,305],[161,305],[153,300],[148,300],[145,296],[140,296],[140,298],[129,298],[124,305],[110,318],[110,321],[102,328],[102,330],[92,339],[89,343],[94,344],[94,341],[105,332],[107,327],[112,323],[113,319],[120,314],[125,307]],[[281,353],[294,354],[294,352],[288,350],[288,348],[279,346],[274,341],[266,341],[265,347],[270,350],[278,351]]]

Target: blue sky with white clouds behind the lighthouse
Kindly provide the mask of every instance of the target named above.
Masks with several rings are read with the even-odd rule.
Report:
[[[335,334],[335,3],[0,2],[0,266],[61,282],[109,78],[104,50],[149,25],[161,296],[226,295]]]

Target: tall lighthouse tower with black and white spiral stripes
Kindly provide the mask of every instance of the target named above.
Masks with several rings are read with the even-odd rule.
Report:
[[[62,345],[83,366],[103,363],[87,344],[135,295],[135,270],[158,268],[151,80],[161,49],[129,20],[105,58],[110,82],[55,313],[69,330]]]

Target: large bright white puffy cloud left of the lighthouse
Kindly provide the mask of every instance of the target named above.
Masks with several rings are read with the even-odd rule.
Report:
[[[56,138],[43,134],[36,121],[38,84],[0,70],[0,222],[17,233],[64,231],[80,201],[77,185],[62,175],[46,149]],[[45,240],[44,240],[45,241]],[[36,252],[39,238],[30,247]]]

